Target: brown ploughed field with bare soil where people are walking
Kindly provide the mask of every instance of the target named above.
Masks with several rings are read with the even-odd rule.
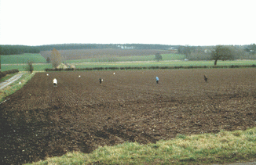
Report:
[[[254,68],[37,73],[0,104],[0,162],[256,127],[255,75]]]

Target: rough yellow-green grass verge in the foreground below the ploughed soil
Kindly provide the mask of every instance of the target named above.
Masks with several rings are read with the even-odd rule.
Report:
[[[256,155],[256,127],[218,134],[177,135],[168,141],[141,145],[126,142],[86,154],[68,152],[28,164],[207,164],[250,160]]]

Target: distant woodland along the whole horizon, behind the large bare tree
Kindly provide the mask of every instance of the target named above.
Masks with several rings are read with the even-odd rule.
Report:
[[[256,45],[225,45],[236,54],[236,59],[256,59]],[[173,53],[183,54],[190,60],[210,59],[210,52],[216,46],[191,46],[191,45],[155,45],[155,44],[59,44],[59,45],[0,45],[0,55],[19,55],[24,53],[40,53],[57,50],[81,49],[123,49],[123,50],[168,50]]]

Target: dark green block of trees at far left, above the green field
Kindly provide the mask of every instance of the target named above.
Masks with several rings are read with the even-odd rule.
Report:
[[[23,53],[39,53],[40,49],[26,45],[0,45],[0,55],[19,55]]]

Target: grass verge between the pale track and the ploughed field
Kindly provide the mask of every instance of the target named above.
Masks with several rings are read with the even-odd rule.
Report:
[[[0,90],[0,102],[3,102],[8,95],[12,95],[15,91],[22,88],[24,86],[24,84],[26,84],[27,81],[29,81],[34,75],[35,74],[25,73],[22,75],[22,77],[20,77],[20,79],[18,81],[15,81],[15,82],[13,82],[13,84],[10,84],[8,87],[1,89]],[[10,78],[10,77],[12,77],[12,74],[9,74],[5,77]]]

